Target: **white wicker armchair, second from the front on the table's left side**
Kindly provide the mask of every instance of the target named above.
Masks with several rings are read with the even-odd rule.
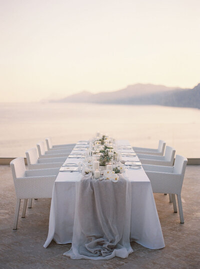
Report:
[[[37,157],[36,148],[30,148],[25,152],[28,169],[56,168],[62,166],[65,157],[41,158]]]

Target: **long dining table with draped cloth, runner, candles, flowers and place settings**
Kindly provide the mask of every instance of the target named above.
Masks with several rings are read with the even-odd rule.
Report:
[[[47,247],[71,243],[72,259],[126,258],[135,241],[164,247],[150,181],[127,140],[81,140],[54,182]]]

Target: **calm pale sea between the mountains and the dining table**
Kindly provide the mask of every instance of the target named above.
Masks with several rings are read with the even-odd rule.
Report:
[[[25,156],[50,136],[53,144],[88,139],[96,131],[131,145],[163,139],[186,157],[200,157],[200,109],[90,103],[0,103],[0,157]]]

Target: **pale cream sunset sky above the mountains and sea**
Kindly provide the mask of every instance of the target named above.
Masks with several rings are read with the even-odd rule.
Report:
[[[199,0],[0,0],[0,101],[200,82]]]

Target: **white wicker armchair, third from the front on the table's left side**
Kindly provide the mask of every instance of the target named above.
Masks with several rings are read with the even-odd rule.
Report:
[[[54,157],[66,157],[69,155],[71,152],[71,149],[60,149],[60,150],[47,150],[45,151],[45,145],[44,142],[41,141],[37,143],[37,150],[39,154],[39,158],[54,158]]]

